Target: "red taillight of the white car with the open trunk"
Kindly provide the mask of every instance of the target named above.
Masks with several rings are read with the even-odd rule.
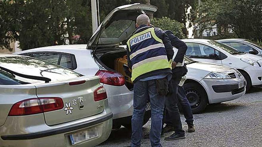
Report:
[[[113,86],[125,85],[124,76],[117,72],[112,72],[108,70],[99,70],[96,73],[96,75],[99,76],[101,83],[113,85]]]

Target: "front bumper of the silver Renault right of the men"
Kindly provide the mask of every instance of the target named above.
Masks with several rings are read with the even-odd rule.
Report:
[[[246,92],[245,86],[238,87],[238,83],[244,79],[203,79],[200,83],[205,87],[210,104],[226,102],[243,96]]]

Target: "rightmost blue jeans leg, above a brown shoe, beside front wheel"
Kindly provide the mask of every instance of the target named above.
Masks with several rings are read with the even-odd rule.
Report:
[[[180,103],[182,110],[184,112],[184,116],[185,116],[185,122],[187,124],[194,124],[194,119],[193,119],[193,113],[191,110],[191,106],[190,103],[188,102],[188,99],[186,98],[185,95],[185,90],[183,87],[178,86],[178,91],[177,91],[177,99],[178,102]]]

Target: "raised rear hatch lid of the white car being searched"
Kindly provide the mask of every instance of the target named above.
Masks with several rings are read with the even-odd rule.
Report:
[[[150,4],[129,4],[112,10],[96,29],[88,42],[88,49],[95,50],[96,45],[118,45],[128,39],[135,30],[135,20],[145,12],[154,13],[157,7]]]

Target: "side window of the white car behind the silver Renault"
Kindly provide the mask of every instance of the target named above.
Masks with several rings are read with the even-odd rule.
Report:
[[[186,43],[188,49],[186,51],[186,56],[192,58],[205,58],[210,59],[210,54],[216,54],[219,56],[219,51],[207,46],[198,43]]]

